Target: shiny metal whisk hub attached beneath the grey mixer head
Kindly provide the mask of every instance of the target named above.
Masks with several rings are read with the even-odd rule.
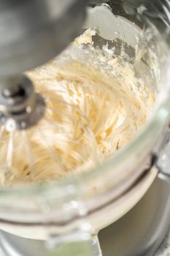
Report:
[[[45,100],[26,76],[1,80],[0,122],[12,132],[36,125],[45,114]]]

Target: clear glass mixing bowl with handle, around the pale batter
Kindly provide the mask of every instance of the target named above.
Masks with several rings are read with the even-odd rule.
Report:
[[[123,42],[132,59],[145,50],[136,73],[150,78],[150,86],[158,91],[147,125],[94,170],[50,185],[1,189],[1,230],[45,240],[51,255],[101,255],[98,231],[127,213],[159,172],[170,175],[161,162],[169,143],[170,2],[154,1],[151,7],[147,3],[91,1],[83,28],[95,26],[95,44],[108,42],[117,56]]]

